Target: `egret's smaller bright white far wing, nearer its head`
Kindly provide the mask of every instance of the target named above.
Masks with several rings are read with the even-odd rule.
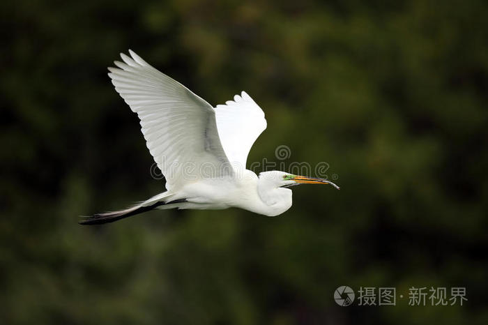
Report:
[[[264,112],[243,91],[225,105],[215,107],[220,142],[229,161],[245,169],[247,155],[257,137],[266,129]]]

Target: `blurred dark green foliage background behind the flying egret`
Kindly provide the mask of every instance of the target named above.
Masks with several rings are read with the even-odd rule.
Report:
[[[486,1],[2,1],[1,324],[488,324]],[[212,105],[248,162],[326,161],[277,218],[83,214],[163,190],[107,66],[131,48]],[[340,285],[396,306],[340,307]],[[409,287],[466,287],[463,306]]]

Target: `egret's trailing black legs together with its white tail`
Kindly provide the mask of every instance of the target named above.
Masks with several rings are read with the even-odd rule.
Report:
[[[176,199],[171,201],[169,199],[169,196],[170,196],[169,193],[164,192],[159,195],[155,195],[154,197],[151,197],[151,199],[136,204],[135,206],[131,206],[130,208],[125,210],[111,211],[106,213],[96,213],[93,216],[85,217],[84,220],[80,220],[79,224],[80,225],[101,225],[103,223],[114,222],[117,220],[121,220],[123,218],[135,216],[139,213],[151,211],[153,209],[158,208],[158,206],[186,202],[186,199]]]

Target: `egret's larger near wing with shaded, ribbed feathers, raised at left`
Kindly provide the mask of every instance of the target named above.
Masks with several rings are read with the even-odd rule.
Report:
[[[231,173],[220,143],[215,111],[188,88],[160,73],[129,50],[119,68],[109,68],[116,91],[141,120],[155,162],[176,188],[204,177]]]

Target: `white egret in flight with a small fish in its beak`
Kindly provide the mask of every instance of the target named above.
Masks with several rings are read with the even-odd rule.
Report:
[[[115,90],[137,113],[142,134],[166,179],[165,192],[128,209],[98,213],[79,223],[114,222],[153,209],[236,207],[277,216],[291,207],[298,184],[330,184],[326,179],[273,170],[259,176],[245,169],[247,154],[266,129],[264,112],[245,93],[212,107],[176,80],[129,50],[108,68]]]

